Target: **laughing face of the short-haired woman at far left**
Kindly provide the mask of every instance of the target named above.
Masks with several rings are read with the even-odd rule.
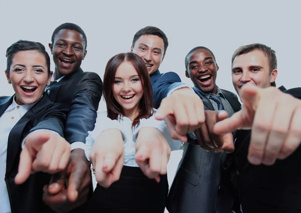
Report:
[[[45,56],[38,51],[20,51],[13,56],[8,81],[16,92],[16,103],[32,104],[38,101],[50,83]]]

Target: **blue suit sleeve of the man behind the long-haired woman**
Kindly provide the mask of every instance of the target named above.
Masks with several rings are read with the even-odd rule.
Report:
[[[168,72],[164,73],[153,86],[155,108],[158,109],[162,99],[166,98],[169,92],[176,87],[185,85],[177,73]]]

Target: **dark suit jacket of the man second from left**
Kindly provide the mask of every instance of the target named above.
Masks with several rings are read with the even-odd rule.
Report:
[[[79,68],[49,90],[49,96],[55,103],[69,105],[65,139],[70,144],[76,141],[85,143],[88,131],[94,129],[97,117],[96,111],[102,94],[100,77]]]

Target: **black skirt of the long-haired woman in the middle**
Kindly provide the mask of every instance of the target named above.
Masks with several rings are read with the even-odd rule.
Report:
[[[164,212],[168,194],[167,175],[160,183],[147,178],[139,167],[123,166],[120,179],[109,188],[97,184],[87,212]]]

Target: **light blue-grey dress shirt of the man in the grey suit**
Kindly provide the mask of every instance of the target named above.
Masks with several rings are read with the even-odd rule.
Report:
[[[225,109],[225,111],[228,113],[229,117],[232,116],[232,115],[234,114],[234,110],[233,110],[231,104],[230,104],[229,101],[225,98],[225,96],[223,95],[223,93],[222,93],[222,91],[221,91],[221,89],[220,89],[219,87],[217,87],[217,93],[216,93],[216,94],[210,93],[210,92],[209,92],[209,93],[203,92],[202,90],[200,90],[200,89],[197,88],[197,87],[194,87],[194,89],[197,90],[198,92],[200,92],[202,95],[204,95],[207,99],[210,100],[210,102],[211,102],[211,104],[212,104],[212,106],[213,106],[213,108],[214,108],[215,111],[218,110],[218,104],[217,104],[214,100],[212,100],[211,97],[212,97],[212,96],[215,96],[215,95],[219,95],[220,98],[221,98],[221,102],[222,102],[222,104],[223,104],[223,106],[224,106],[224,109]],[[191,139],[193,139],[193,140],[196,140],[196,139],[197,139],[197,137],[196,137],[196,135],[194,134],[194,132],[189,132],[189,133],[188,133],[188,136],[189,136],[189,138],[191,138]]]

